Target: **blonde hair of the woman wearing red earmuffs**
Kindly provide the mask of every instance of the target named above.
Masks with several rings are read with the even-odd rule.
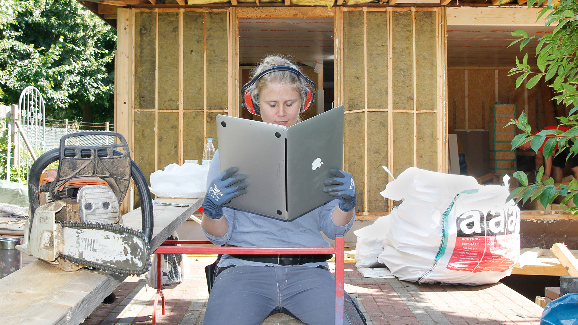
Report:
[[[265,69],[271,68],[275,65],[287,65],[288,67],[294,68],[297,71],[301,72],[301,68],[297,64],[295,64],[291,60],[291,56],[282,56],[280,54],[269,54],[266,56],[260,63],[257,64],[257,67],[251,69],[250,78],[253,79],[254,76],[258,75]],[[243,97],[250,91],[251,94],[251,101],[253,103],[259,102],[259,94],[262,90],[269,86],[272,83],[281,83],[281,84],[291,84],[293,89],[301,94],[301,108],[299,109],[299,113],[303,112],[305,108],[305,101],[307,99],[307,83],[305,80],[301,79],[297,74],[291,71],[273,71],[271,73],[267,73],[266,75],[262,76],[252,84],[249,88],[246,89],[245,93],[242,94]],[[257,110],[255,110],[257,112]],[[258,112],[261,115],[261,109]],[[299,118],[298,121],[300,121]]]

